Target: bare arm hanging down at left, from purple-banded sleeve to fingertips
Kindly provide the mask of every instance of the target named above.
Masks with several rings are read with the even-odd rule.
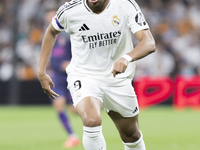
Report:
[[[42,86],[42,89],[44,92],[50,97],[55,98],[55,96],[59,96],[56,94],[51,88],[54,87],[54,83],[52,82],[49,75],[45,73],[46,66],[49,60],[49,56],[51,54],[52,48],[56,41],[56,36],[59,34],[60,31],[57,31],[53,25],[50,23],[43,41],[42,41],[42,47],[41,47],[41,54],[40,54],[40,61],[39,61],[39,67],[37,71],[38,79],[40,81],[40,84]],[[51,87],[51,88],[50,88]]]

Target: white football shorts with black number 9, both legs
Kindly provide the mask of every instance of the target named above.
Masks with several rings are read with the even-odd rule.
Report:
[[[67,81],[74,107],[85,97],[92,96],[103,103],[106,113],[112,110],[123,117],[134,117],[139,113],[131,79],[106,80],[69,75]]]

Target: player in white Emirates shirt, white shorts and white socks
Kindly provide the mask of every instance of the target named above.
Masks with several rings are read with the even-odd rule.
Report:
[[[45,73],[56,35],[71,34],[66,72],[73,104],[83,122],[85,150],[106,150],[101,109],[115,123],[125,150],[145,150],[132,86],[135,61],[155,51],[155,41],[134,0],[72,0],[61,6],[46,30],[38,68],[44,92],[59,96]],[[133,48],[131,33],[139,40]]]

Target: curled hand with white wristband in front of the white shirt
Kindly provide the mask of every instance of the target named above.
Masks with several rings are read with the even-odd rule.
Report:
[[[123,57],[120,57],[115,63],[114,63],[114,66],[113,66],[113,70],[112,70],[112,74],[113,74],[113,77],[115,78],[115,76],[117,74],[120,74],[120,73],[124,73],[127,66],[128,66],[128,61],[123,58]]]

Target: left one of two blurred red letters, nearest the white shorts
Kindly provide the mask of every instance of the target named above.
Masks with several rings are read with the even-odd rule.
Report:
[[[140,108],[146,108],[168,100],[172,94],[169,77],[144,77],[134,81]]]

